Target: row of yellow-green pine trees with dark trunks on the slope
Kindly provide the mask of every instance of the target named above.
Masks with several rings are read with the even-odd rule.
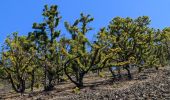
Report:
[[[133,71],[169,65],[170,28],[151,28],[148,16],[115,17],[94,33],[95,41],[87,38],[95,20],[91,15],[81,13],[74,23],[64,22],[70,38],[58,29],[62,15],[57,5],[45,5],[41,19],[32,24],[34,31],[26,36],[14,32],[2,45],[0,78],[16,93],[53,91],[64,82],[73,83],[77,93],[91,74],[107,73],[114,84],[133,80]]]

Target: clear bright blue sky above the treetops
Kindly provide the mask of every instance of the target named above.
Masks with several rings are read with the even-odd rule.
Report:
[[[33,22],[42,21],[42,9],[45,4],[57,4],[62,20],[59,29],[67,34],[63,23],[73,21],[81,12],[92,15],[95,20],[91,24],[93,33],[107,26],[116,17],[149,16],[151,27],[164,28],[170,26],[170,0],[1,0],[0,1],[0,44],[12,32],[27,35],[32,31]]]

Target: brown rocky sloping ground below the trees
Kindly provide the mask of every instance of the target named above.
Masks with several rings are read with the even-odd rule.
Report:
[[[87,78],[88,84],[73,93],[73,84],[58,85],[50,92],[1,95],[1,99],[34,100],[170,100],[170,68],[147,69],[134,73],[133,80],[112,81],[109,78]],[[87,80],[85,79],[85,81]],[[91,81],[95,80],[95,82]]]

